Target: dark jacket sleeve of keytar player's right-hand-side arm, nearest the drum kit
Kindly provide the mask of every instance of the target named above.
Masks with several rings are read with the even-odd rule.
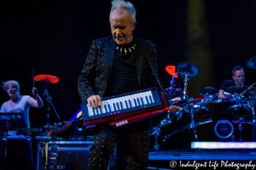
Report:
[[[152,48],[150,48],[150,52],[152,54],[152,62],[153,62],[153,67],[154,67],[154,70],[156,71],[156,76],[157,77],[154,77],[154,73],[153,71],[151,70],[151,72],[149,73],[149,87],[160,87],[163,91],[163,93],[165,94],[166,96],[166,99],[170,100],[172,99],[172,96],[168,93],[168,91],[166,90],[166,88],[163,86],[164,83],[162,82],[161,78],[159,77],[159,74],[158,74],[158,66],[157,66],[157,51],[156,51],[156,46],[155,44],[152,46]]]

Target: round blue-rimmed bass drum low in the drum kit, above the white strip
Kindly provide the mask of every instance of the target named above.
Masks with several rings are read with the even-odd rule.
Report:
[[[216,123],[214,131],[218,138],[229,139],[234,133],[234,126],[230,121],[221,120]],[[232,140],[234,140],[234,138]]]

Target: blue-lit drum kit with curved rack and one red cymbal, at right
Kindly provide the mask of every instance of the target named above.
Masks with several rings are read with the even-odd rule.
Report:
[[[246,65],[248,68],[256,69],[256,56],[247,59]],[[171,86],[169,88],[166,88],[169,94],[172,95],[172,98],[189,98],[187,94],[188,81],[190,77],[195,77],[200,73],[199,67],[193,63],[182,62],[177,64],[176,66],[166,66],[166,71],[172,76],[172,79],[170,81]],[[183,89],[180,88],[181,84],[177,83],[182,82],[182,79]],[[254,84],[255,82],[246,90],[239,87],[227,88],[224,90],[224,96],[226,97],[224,99],[218,98],[218,90],[215,88],[201,88],[201,90],[199,91],[200,96],[196,96],[195,98],[200,98],[201,96],[203,96],[203,98],[198,99],[195,102],[189,103],[188,105],[184,105],[182,109],[180,111],[177,111],[176,113],[167,113],[167,116],[163,118],[157,126],[151,129],[150,135],[154,135],[155,139],[154,150],[159,150],[160,148],[158,144],[158,138],[161,133],[161,127],[172,123],[172,119],[174,117],[177,117],[177,120],[179,120],[183,116],[190,116],[191,122],[189,123],[189,125],[181,127],[173,131],[172,133],[167,134],[163,138],[163,141],[165,141],[175,133],[179,133],[186,129],[193,129],[194,138],[196,141],[198,141],[196,127],[207,122],[212,122],[212,119],[208,119],[202,122],[195,122],[194,116],[207,115],[209,113],[209,110],[207,109],[208,103],[236,102],[236,105],[231,105],[229,107],[229,112],[234,117],[236,117],[236,120],[233,120],[232,123],[239,123],[240,139],[238,140],[242,141],[241,130],[243,123],[253,125],[252,140],[254,140],[254,127],[256,125],[254,111],[254,105],[256,104],[256,88],[253,87]],[[247,117],[250,117],[250,120],[246,120]],[[234,126],[232,123],[228,120],[218,121],[214,129],[216,135],[220,139],[231,139],[232,141],[234,141],[234,135],[232,136],[232,134],[234,133]]]

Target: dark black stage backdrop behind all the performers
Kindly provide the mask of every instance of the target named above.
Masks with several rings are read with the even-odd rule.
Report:
[[[166,87],[171,80],[166,73],[166,65],[184,61],[194,62],[201,68],[201,73],[189,80],[189,96],[198,95],[204,87],[219,89],[225,79],[231,78],[231,69],[236,65],[245,67],[247,85],[255,82],[256,71],[245,65],[245,61],[256,54],[255,1],[131,2],[137,8],[135,34],[156,43],[159,74]],[[2,0],[0,80],[16,80],[20,82],[20,94],[32,95],[32,68],[35,75],[59,77],[60,82],[49,84],[49,95],[61,121],[70,120],[80,109],[77,80],[90,44],[94,38],[111,35],[108,22],[110,7],[110,0]],[[200,24],[196,21],[199,18],[202,19]],[[193,35],[196,38],[193,39]],[[36,82],[36,87],[44,99],[44,83]],[[1,104],[9,99],[3,90],[0,96]],[[196,122],[213,118],[213,122],[197,127],[198,137],[204,141],[217,140],[213,127],[221,108],[220,104],[208,106],[209,115],[195,116]],[[153,126],[162,117],[155,117]],[[44,109],[31,108],[30,120],[32,127],[44,126],[45,99]],[[51,108],[50,123],[54,122],[60,121]],[[183,117],[163,127],[160,139],[188,123],[189,117]],[[61,135],[72,135],[72,132],[68,130]],[[160,142],[160,148],[188,147],[194,140],[192,134],[191,130],[177,133],[165,143]],[[153,141],[152,138],[152,145]]]

